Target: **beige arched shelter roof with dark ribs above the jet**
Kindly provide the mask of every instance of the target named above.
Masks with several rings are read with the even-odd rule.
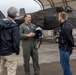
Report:
[[[76,10],[76,0],[34,0],[34,1],[40,5],[41,9],[47,9],[59,6],[63,6],[65,8],[66,6],[70,6]]]

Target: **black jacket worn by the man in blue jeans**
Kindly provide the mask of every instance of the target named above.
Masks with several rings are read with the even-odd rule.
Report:
[[[64,21],[60,26],[59,49],[72,52],[72,47],[74,46],[72,26],[69,21]]]

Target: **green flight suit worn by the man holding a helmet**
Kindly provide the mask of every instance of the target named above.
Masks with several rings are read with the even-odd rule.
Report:
[[[39,75],[39,58],[38,58],[38,51],[34,49],[34,44],[35,44],[35,38],[28,38],[26,35],[29,34],[30,32],[35,31],[35,25],[34,24],[25,24],[23,23],[20,26],[20,36],[22,39],[22,47],[23,47],[23,58],[24,58],[24,69],[25,69],[25,74],[30,75],[30,56],[32,57],[33,60],[33,67],[34,67],[34,75]]]

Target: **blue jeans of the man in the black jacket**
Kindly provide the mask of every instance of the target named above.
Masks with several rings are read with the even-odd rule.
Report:
[[[64,75],[72,75],[72,72],[70,70],[70,64],[69,64],[70,55],[71,55],[70,52],[60,50],[60,63],[61,63]]]

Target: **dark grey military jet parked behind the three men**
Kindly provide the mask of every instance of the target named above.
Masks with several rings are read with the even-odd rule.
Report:
[[[32,15],[32,22],[40,26],[44,30],[53,30],[58,29],[60,24],[58,23],[58,13],[66,11],[69,14],[69,20],[73,26],[76,26],[76,11],[67,6],[65,9],[63,7],[53,7],[44,10],[40,10],[34,13],[30,13]],[[20,15],[16,18],[16,22],[20,25],[24,22],[24,8],[20,9]],[[2,12],[0,12],[0,18],[5,18]]]

